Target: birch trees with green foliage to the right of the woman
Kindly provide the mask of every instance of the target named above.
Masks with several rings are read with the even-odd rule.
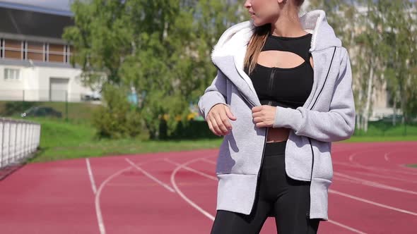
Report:
[[[312,0],[351,55],[356,111],[370,116],[373,90],[383,84],[394,109],[411,123],[417,113],[417,8],[409,0]],[[372,84],[372,85],[369,85]],[[368,92],[371,90],[370,92]],[[367,109],[365,106],[369,106]],[[360,126],[360,125],[357,125]]]

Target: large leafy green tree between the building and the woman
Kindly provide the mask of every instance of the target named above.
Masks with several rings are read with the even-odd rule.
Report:
[[[76,25],[65,30],[64,38],[74,44],[73,63],[83,68],[86,84],[104,82],[144,94],[137,111],[150,137],[158,139],[165,115],[170,116],[164,123],[168,136],[179,123],[175,116],[187,125],[189,103],[196,103],[216,75],[211,48],[226,27],[239,21],[240,5],[227,0],[76,0],[71,7]],[[112,135],[118,115],[105,109],[99,113],[110,123],[96,125],[100,135]]]

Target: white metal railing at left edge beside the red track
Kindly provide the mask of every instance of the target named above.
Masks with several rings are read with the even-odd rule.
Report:
[[[25,161],[39,144],[39,123],[0,117],[0,169]]]

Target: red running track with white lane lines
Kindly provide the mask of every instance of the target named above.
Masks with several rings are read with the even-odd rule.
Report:
[[[217,149],[28,164],[0,181],[0,233],[209,233]],[[416,233],[417,142],[337,143],[319,233]],[[262,234],[276,233],[268,218]]]

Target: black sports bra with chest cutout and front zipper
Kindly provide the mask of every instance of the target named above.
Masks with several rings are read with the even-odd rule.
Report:
[[[312,90],[313,69],[310,64],[310,43],[312,34],[301,37],[278,37],[269,35],[262,51],[290,51],[304,58],[294,68],[269,68],[259,63],[250,75],[255,91],[262,105],[283,106],[296,109],[303,106]]]

